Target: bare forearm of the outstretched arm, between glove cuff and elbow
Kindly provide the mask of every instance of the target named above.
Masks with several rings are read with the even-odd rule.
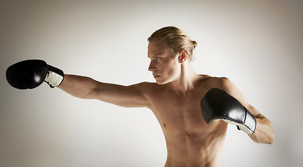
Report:
[[[74,97],[94,99],[97,84],[97,81],[89,77],[65,74],[63,82],[57,87]]]

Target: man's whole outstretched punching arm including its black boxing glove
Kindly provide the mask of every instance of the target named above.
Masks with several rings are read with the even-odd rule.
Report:
[[[95,81],[89,77],[64,74],[62,70],[42,60],[27,60],[10,65],[6,70],[8,83],[19,89],[36,88],[47,82],[51,88],[58,87],[75,97],[97,99],[118,106],[148,106],[144,95],[146,83],[120,86]]]

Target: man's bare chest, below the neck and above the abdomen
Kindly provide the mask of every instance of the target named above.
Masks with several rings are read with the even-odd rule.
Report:
[[[151,105],[164,131],[194,134],[206,126],[200,106],[202,97],[201,93],[185,96],[161,93],[151,98]]]

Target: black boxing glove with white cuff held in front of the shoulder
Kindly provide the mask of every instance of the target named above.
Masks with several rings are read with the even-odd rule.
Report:
[[[234,97],[222,89],[211,88],[201,100],[202,115],[207,123],[222,119],[247,134],[256,129],[256,119]]]

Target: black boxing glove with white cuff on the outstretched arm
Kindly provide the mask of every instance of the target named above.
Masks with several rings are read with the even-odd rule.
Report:
[[[40,86],[43,81],[51,88],[58,86],[64,79],[62,70],[47,65],[42,60],[20,61],[10,65],[6,70],[6,80],[10,86],[18,89],[32,89]]]

